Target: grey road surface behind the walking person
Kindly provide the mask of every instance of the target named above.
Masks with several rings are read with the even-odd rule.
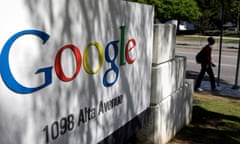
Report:
[[[217,80],[218,76],[218,62],[219,62],[219,46],[215,45],[212,51],[213,62],[217,65],[214,68],[214,74]],[[200,65],[195,61],[195,55],[200,51],[201,47],[194,45],[176,45],[176,55],[187,57],[187,71],[188,74],[197,75],[200,71]],[[222,50],[222,62],[220,71],[220,80],[227,82],[228,84],[234,85],[235,83],[235,73],[237,64],[237,52],[238,49],[227,49]],[[207,74],[206,74],[207,75]]]

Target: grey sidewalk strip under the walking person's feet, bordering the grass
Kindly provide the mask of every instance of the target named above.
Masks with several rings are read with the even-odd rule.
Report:
[[[210,82],[202,81],[201,88],[204,90],[204,92],[210,92],[218,96],[240,99],[240,89],[232,89],[232,85],[220,83],[218,86],[219,91],[212,92]]]

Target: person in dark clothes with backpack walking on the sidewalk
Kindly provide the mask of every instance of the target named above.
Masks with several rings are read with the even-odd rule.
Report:
[[[202,50],[197,55],[197,62],[201,64],[201,71],[197,77],[194,90],[195,91],[203,91],[200,88],[201,81],[204,78],[205,72],[208,73],[211,89],[212,91],[216,91],[215,77],[212,70],[212,67],[216,67],[216,65],[212,62],[212,46],[215,44],[215,40],[212,37],[208,38],[208,44],[202,48]]]

